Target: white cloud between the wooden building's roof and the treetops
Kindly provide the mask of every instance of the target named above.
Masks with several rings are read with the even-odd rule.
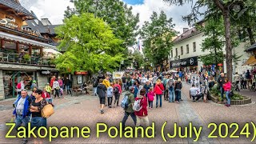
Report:
[[[20,2],[27,10],[32,10],[39,19],[49,18],[52,24],[62,24],[66,7],[74,7],[70,0],[20,0]]]

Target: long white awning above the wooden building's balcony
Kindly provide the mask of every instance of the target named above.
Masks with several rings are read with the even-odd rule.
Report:
[[[47,43],[34,41],[34,40],[28,39],[28,38],[22,38],[20,36],[14,35],[14,34],[7,34],[7,33],[4,33],[2,31],[0,31],[0,38],[6,38],[6,39],[9,39],[9,40],[15,41],[15,42],[22,42],[22,43],[26,43],[26,44],[29,44],[29,45],[42,46],[42,47],[45,47],[45,48],[50,48],[50,49],[56,50],[56,46],[51,46]]]

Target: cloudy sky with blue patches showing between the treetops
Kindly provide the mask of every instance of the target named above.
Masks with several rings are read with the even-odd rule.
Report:
[[[140,14],[140,26],[143,22],[150,20],[153,11],[160,13],[164,10],[168,18],[173,18],[175,30],[182,32],[187,26],[187,22],[182,21],[182,15],[189,14],[191,4],[185,6],[169,6],[162,0],[122,0],[128,5],[133,6],[134,14]],[[70,0],[20,0],[22,6],[27,10],[33,10],[34,14],[41,18],[49,18],[53,24],[61,24],[63,14],[67,6],[74,7]]]

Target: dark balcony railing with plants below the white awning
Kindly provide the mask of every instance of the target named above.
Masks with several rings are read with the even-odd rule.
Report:
[[[30,58],[23,58],[19,54],[7,54],[0,52],[0,62],[20,63],[27,65],[42,65],[42,66],[54,66],[51,64],[49,58],[41,58],[39,56],[30,56]]]

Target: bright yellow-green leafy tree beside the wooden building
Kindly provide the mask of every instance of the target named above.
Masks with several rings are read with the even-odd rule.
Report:
[[[58,70],[70,73],[112,71],[120,65],[122,40],[115,38],[110,26],[101,18],[94,18],[94,14],[65,18],[56,32],[62,39],[58,49],[66,48],[66,53],[55,60]]]

